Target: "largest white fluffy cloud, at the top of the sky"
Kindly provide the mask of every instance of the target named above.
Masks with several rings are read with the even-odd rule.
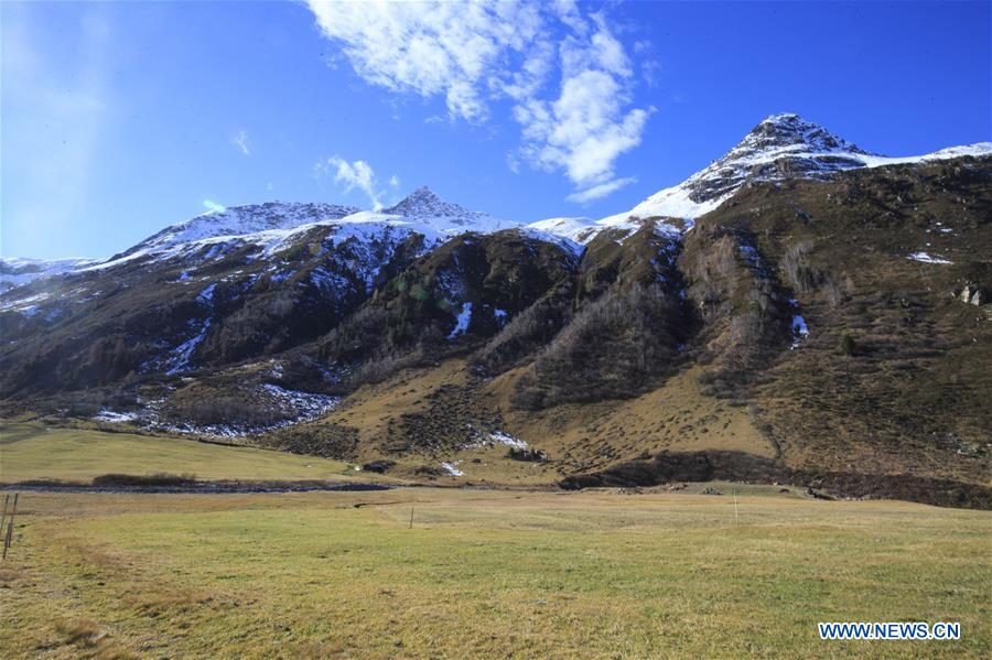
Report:
[[[578,190],[570,198],[625,185],[614,164],[640,143],[654,108],[632,107],[639,78],[604,12],[571,0],[308,3],[373,85],[443,99],[450,120],[476,125],[509,100],[521,129],[509,162],[563,172]]]

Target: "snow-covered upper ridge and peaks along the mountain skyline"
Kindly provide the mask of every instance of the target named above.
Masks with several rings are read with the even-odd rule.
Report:
[[[517,228],[526,230],[532,238],[557,242],[574,251],[581,250],[582,245],[603,230],[630,232],[648,218],[681,220],[656,224],[656,230],[678,237],[691,227],[692,219],[714,210],[751,183],[827,180],[845,170],[990,154],[992,142],[979,142],[920,156],[888,158],[847,142],[798,115],[779,113],[758,123],[726,154],[682,183],[655,193],[630,210],[599,220],[584,217],[556,217],[530,224],[502,220],[441,199],[427,186],[413,191],[393,206],[376,212],[336,204],[268,202],[198,215],[166,227],[107,261],[56,260],[42,266],[42,262],[31,260],[8,259],[0,262],[0,290],[50,274],[105,270],[148,257],[200,255],[211,259],[244,246],[272,253],[321,226],[331,227],[335,242],[349,238],[379,240],[387,232],[392,239],[402,240],[410,234],[418,234],[424,239],[425,250],[468,231],[490,234]]]

